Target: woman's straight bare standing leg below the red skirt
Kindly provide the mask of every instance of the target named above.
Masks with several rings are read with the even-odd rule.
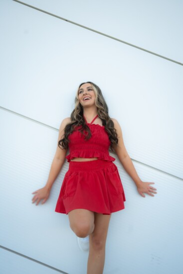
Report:
[[[90,248],[87,274],[103,274],[105,244],[111,215],[95,214],[95,229],[89,235]]]

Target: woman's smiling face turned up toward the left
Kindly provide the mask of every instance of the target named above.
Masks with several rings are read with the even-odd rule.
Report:
[[[91,84],[86,83],[79,88],[78,99],[83,107],[95,104],[95,98],[95,92]]]

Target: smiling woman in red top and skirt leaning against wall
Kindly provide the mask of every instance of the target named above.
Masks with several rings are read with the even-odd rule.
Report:
[[[108,115],[102,92],[94,83],[82,83],[75,98],[75,109],[59,129],[58,146],[46,185],[33,192],[32,202],[42,204],[49,197],[65,158],[69,170],[64,177],[56,212],[69,216],[70,227],[80,238],[89,235],[87,274],[102,274],[105,244],[111,213],[124,209],[125,194],[115,158],[109,146],[137,185],[140,195],[154,196],[156,188],[142,182],[124,146],[116,119]],[[67,149],[70,154],[66,157]]]

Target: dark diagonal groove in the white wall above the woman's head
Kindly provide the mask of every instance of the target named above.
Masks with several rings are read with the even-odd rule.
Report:
[[[133,45],[133,44],[131,44],[131,43],[128,43],[128,42],[126,42],[126,41],[123,41],[123,40],[121,40],[121,39],[118,39],[118,38],[116,38],[116,37],[110,36],[110,35],[108,35],[108,34],[106,34],[106,33],[103,33],[103,32],[97,31],[97,30],[95,30],[95,29],[89,28],[89,27],[87,27],[87,26],[78,24],[78,23],[73,22],[73,21],[71,21],[71,20],[69,20],[69,19],[63,18],[63,17],[61,17],[61,16],[58,16],[58,15],[53,14],[53,13],[50,13],[50,12],[45,11],[45,10],[43,10],[43,9],[37,8],[37,7],[35,7],[35,6],[26,4],[26,3],[22,2],[22,1],[18,1],[18,0],[13,0],[13,1],[14,1],[14,2],[17,2],[17,3],[20,3],[20,4],[23,4],[23,5],[25,5],[25,6],[31,7],[31,8],[33,8],[33,9],[36,9],[36,10],[41,11],[41,12],[43,12],[43,13],[46,13],[46,14],[48,14],[48,15],[54,16],[54,17],[56,17],[56,18],[58,18],[58,19],[64,20],[64,21],[66,21],[66,22],[68,22],[68,23],[71,23],[71,24],[74,24],[74,25],[76,25],[76,26],[79,26],[79,27],[85,28],[85,29],[87,29],[87,30],[93,31],[93,32],[95,32],[95,33],[98,33],[98,34],[103,35],[103,36],[105,36],[105,37],[108,37],[108,38],[110,38],[110,39],[116,40],[116,41],[118,41],[118,42],[120,42],[120,43],[123,43],[123,44],[126,44],[126,45],[128,45],[128,46],[137,48],[137,49],[139,49],[139,50],[145,51],[145,52],[150,53],[150,54],[153,54],[153,55],[155,55],[155,56],[157,56],[157,57],[166,59],[166,60],[168,60],[168,61],[170,61],[170,62],[173,62],[173,63],[176,63],[176,64],[178,64],[178,65],[183,66],[183,63],[181,63],[181,62],[178,62],[178,61],[176,61],[176,60],[170,59],[170,58],[168,58],[168,57],[166,57],[166,56],[163,56],[163,55],[160,55],[160,54],[158,54],[158,53],[155,53],[155,52],[146,50],[146,49],[144,49],[144,48],[138,47],[138,46],[136,46],[136,45]]]

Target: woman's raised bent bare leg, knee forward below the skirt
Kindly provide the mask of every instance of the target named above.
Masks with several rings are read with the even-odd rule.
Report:
[[[94,212],[86,209],[74,209],[68,213],[70,227],[80,238],[91,234],[94,230]]]

